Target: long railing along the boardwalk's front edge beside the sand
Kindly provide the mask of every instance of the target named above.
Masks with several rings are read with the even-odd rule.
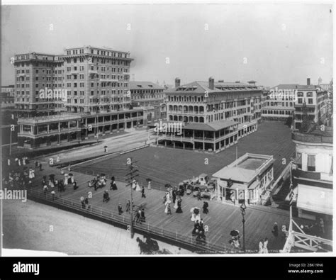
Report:
[[[82,204],[72,200],[71,198],[62,198],[56,195],[52,195],[49,193],[45,193],[41,190],[36,189],[28,189],[27,190],[28,198],[37,199],[38,201],[45,202],[52,206],[62,206],[67,210],[74,211],[76,213],[81,213],[83,215],[89,215],[90,217],[96,217],[103,220],[108,220],[111,223],[116,223],[128,228],[130,225],[130,217],[128,215],[119,215],[116,211],[106,211],[105,209],[98,206],[89,206],[87,208],[83,208]],[[231,249],[232,246],[224,244],[223,246],[210,244],[208,240],[203,242],[197,242],[195,237],[180,235],[177,231],[172,232],[167,230],[166,228],[158,228],[150,225],[150,223],[142,223],[137,224],[133,223],[133,228],[137,233],[145,233],[152,234],[156,237],[161,237],[164,240],[169,240],[175,244],[181,245],[181,247],[192,248],[194,251],[198,253],[208,253],[208,254],[230,254],[237,253],[237,250]]]

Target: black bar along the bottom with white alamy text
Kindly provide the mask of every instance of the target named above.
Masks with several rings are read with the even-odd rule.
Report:
[[[14,273],[18,262],[39,264],[39,274]],[[0,277],[335,279],[335,263],[335,257],[2,257]]]

